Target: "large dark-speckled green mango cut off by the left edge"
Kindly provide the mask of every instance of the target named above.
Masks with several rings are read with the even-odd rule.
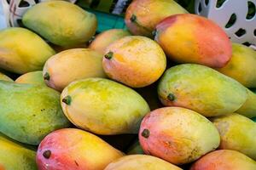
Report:
[[[70,123],[61,111],[60,94],[52,88],[0,81],[0,132],[25,144]]]

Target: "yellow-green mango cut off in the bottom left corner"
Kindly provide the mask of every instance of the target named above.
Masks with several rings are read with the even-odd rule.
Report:
[[[0,133],[1,170],[37,170],[36,152],[26,149]]]

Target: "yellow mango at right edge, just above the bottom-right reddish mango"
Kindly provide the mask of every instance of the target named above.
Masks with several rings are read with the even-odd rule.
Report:
[[[256,160],[256,124],[251,119],[236,113],[214,117],[211,120],[220,134],[219,149],[237,150]]]

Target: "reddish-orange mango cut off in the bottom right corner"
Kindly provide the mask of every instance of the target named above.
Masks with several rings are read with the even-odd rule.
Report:
[[[256,162],[235,150],[216,150],[195,161],[190,170],[255,170]]]

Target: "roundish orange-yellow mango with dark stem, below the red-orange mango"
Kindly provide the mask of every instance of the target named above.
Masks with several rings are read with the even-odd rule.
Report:
[[[157,81],[166,70],[166,54],[148,37],[128,36],[108,46],[102,65],[111,79],[142,88]]]

